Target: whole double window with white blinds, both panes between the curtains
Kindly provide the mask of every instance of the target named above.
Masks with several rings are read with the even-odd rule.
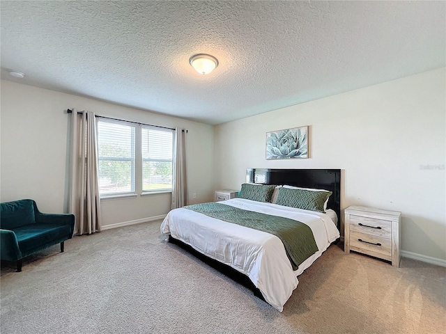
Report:
[[[174,130],[98,120],[101,197],[172,191]]]

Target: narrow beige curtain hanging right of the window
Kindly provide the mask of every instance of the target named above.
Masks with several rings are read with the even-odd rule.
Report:
[[[186,134],[185,129],[175,129],[172,209],[187,205]]]

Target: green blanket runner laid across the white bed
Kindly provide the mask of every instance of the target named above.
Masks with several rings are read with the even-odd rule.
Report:
[[[298,269],[302,262],[318,250],[312,229],[300,221],[214,202],[188,205],[184,208],[279,237],[284,243],[293,270]]]

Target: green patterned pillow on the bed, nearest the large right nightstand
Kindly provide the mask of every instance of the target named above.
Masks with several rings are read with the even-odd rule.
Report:
[[[331,191],[280,188],[276,204],[325,213],[323,206],[331,194]]]

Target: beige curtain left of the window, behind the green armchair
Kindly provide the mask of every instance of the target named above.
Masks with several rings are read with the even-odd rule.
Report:
[[[73,109],[69,209],[76,217],[75,234],[100,231],[97,138],[95,114]]]

